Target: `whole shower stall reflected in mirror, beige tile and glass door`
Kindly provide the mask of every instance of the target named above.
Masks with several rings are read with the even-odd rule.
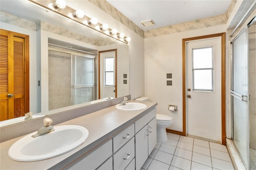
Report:
[[[49,110],[96,99],[96,57],[48,47]]]

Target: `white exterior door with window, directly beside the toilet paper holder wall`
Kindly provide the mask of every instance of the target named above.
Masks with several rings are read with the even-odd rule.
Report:
[[[221,37],[186,42],[186,133],[222,141]]]

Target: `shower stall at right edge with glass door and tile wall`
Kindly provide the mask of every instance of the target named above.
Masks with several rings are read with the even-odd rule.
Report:
[[[256,169],[256,16],[232,46],[232,140],[246,169]]]

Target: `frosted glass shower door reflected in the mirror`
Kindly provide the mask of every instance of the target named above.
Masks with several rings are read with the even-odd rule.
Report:
[[[72,105],[95,100],[95,59],[72,55]]]

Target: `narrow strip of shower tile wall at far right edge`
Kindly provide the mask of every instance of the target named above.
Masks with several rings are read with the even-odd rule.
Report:
[[[250,147],[256,149],[256,25],[249,28]]]

